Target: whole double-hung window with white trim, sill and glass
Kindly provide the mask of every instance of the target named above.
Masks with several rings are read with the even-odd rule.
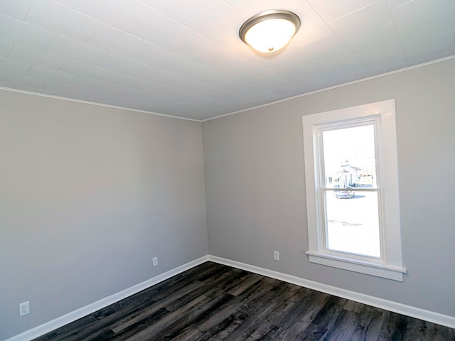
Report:
[[[303,124],[309,261],[402,281],[395,100]]]

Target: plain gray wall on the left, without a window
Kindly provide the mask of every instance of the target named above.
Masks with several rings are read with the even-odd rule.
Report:
[[[208,253],[200,123],[4,90],[0,104],[0,340]]]

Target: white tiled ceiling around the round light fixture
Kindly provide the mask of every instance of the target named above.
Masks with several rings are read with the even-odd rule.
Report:
[[[300,31],[259,55],[261,11]],[[0,0],[0,87],[204,120],[455,55],[454,0]]]

